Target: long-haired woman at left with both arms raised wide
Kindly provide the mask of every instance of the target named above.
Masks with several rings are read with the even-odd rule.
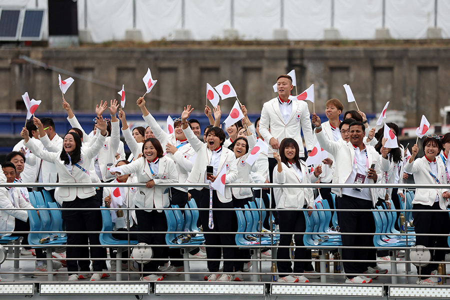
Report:
[[[42,150],[35,142],[29,138],[28,130],[23,127],[20,135],[25,139],[24,145],[30,149],[37,157],[52,162],[58,174],[59,182],[63,183],[91,183],[89,172],[90,160],[98,153],[100,147],[105,141],[106,122],[103,118],[97,117],[95,125],[97,130],[97,139],[91,147],[81,147],[81,139],[77,133],[69,132],[64,136],[62,149],[58,152],[48,152]],[[82,233],[83,231],[100,231],[101,230],[101,213],[99,210],[89,210],[88,208],[98,207],[95,197],[94,187],[85,187],[82,185],[59,187],[58,194],[55,198],[62,202],[62,208],[86,208],[86,210],[62,210],[62,218],[65,221],[67,232],[67,245],[73,244],[99,244],[99,233]],[[79,232],[79,233],[74,233]],[[102,247],[91,247],[91,258],[105,257],[106,250]],[[77,247],[67,246],[67,258],[87,258],[82,257],[84,251],[80,251]],[[80,260],[78,260],[78,263]],[[87,278],[89,269],[89,260],[86,263],[80,263],[80,271],[78,273],[78,264],[76,260],[67,260],[67,270],[69,271],[69,280],[77,280],[78,278]],[[103,261],[94,260],[93,270],[101,271]],[[78,274],[77,274],[78,273]],[[97,274],[97,273],[96,273]],[[99,274],[98,274],[99,275]],[[96,275],[96,277],[98,276]]]

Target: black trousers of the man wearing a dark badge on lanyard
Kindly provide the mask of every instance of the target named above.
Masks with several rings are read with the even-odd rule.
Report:
[[[342,195],[339,197],[339,209],[348,209],[347,211],[339,211],[339,227],[340,232],[353,234],[342,234],[342,259],[351,260],[367,260],[369,251],[363,248],[345,248],[346,246],[369,247],[373,245],[372,236],[358,235],[357,233],[369,233],[372,230],[371,220],[373,214],[371,200],[359,199],[352,196]],[[354,211],[355,209],[365,209],[366,211]],[[356,233],[356,234],[355,234]],[[344,262],[345,272],[362,273],[367,270],[366,262]],[[347,275],[347,278],[355,277],[355,275]]]

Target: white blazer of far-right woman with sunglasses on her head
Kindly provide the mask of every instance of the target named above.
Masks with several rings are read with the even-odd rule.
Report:
[[[437,179],[442,183],[447,183],[447,176],[445,174],[445,166],[442,159],[436,156],[437,164],[437,175],[434,174]],[[446,209],[448,206],[448,200],[442,197],[442,193],[445,191],[450,191],[447,188],[440,188],[436,180],[430,175],[431,167],[429,166],[428,160],[425,156],[420,157],[409,163],[409,159],[404,165],[404,170],[414,174],[414,182],[421,184],[435,184],[435,188],[416,188],[414,193],[414,199],[412,204],[418,203],[423,205],[432,206],[436,196],[439,196],[439,207],[441,209]]]

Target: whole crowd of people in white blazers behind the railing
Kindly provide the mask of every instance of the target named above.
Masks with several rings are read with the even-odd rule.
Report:
[[[116,100],[110,100],[96,105],[93,130],[86,134],[69,102],[63,98],[62,107],[67,111],[72,128],[60,137],[55,133],[51,118],[33,116],[20,133],[23,139],[1,164],[0,181],[77,183],[68,187],[42,188],[62,210],[67,246],[64,252],[52,253],[53,270],[66,266],[69,281],[100,280],[116,270],[115,251],[109,251],[110,264],[107,265],[106,248],[72,246],[99,244],[99,233],[87,232],[101,230],[100,210],[89,209],[100,206],[116,208],[110,210],[114,222],[113,237],[127,239],[129,235],[131,240],[152,247],[156,259],[143,264],[142,269],[132,260],[123,268],[140,271],[143,274],[140,279],[146,281],[182,274],[184,268],[179,249],[161,246],[165,245],[164,233],[148,232],[167,231],[163,209],[175,204],[184,207],[190,199],[195,200],[197,207],[210,210],[199,210],[198,226],[208,232],[204,234],[205,246],[192,250],[189,257],[207,259],[208,272],[204,276],[207,281],[242,281],[242,274],[248,271],[251,262],[249,250],[232,247],[236,245],[236,213],[232,209],[214,209],[244,208],[255,198],[262,198],[265,207],[276,208],[272,212],[274,222],[269,222],[270,213],[267,213],[263,226],[279,231],[278,245],[284,246],[277,248],[277,281],[309,282],[319,278],[311,262],[307,261],[311,251],[303,244],[305,218],[310,217],[315,205],[312,188],[281,186],[270,190],[225,185],[223,191],[211,186],[215,180],[225,184],[318,183],[317,190],[323,201],[327,201],[332,209],[343,209],[337,212],[340,232],[354,233],[341,235],[342,259],[350,260],[343,263],[347,283],[370,283],[379,274],[387,273],[388,270],[377,265],[376,260],[389,259],[389,256],[376,249],[364,249],[373,247],[373,241],[370,235],[361,233],[375,232],[371,212],[375,205],[398,209],[400,201],[405,199],[402,188],[360,188],[358,183],[403,183],[408,174],[413,174],[416,183],[434,184],[435,188],[417,188],[412,200],[413,209],[417,210],[412,213],[414,230],[428,234],[416,236],[415,243],[431,248],[448,247],[447,236],[433,234],[449,233],[448,213],[439,213],[439,210],[446,209],[450,192],[440,188],[439,184],[450,183],[447,171],[450,133],[443,136],[426,133],[420,140],[425,154],[415,159],[419,149],[417,144],[411,147],[410,157],[398,141],[397,147],[384,147],[383,129],[370,129],[362,111],[342,113],[342,103],[335,98],[329,99],[325,105],[327,121],[322,123],[315,113],[310,114],[305,101],[289,99],[293,88],[289,75],[278,76],[276,86],[278,95],[263,104],[260,117],[253,122],[247,117],[245,106],[241,105],[243,118],[223,130],[220,106],[211,110],[205,105],[204,113],[210,125],[201,131],[198,120],[189,117],[194,108],[186,105],[181,116],[173,119],[170,134],[161,129],[149,113],[143,97],[136,103],[148,125],[146,128],[130,128],[125,111]],[[387,126],[398,136],[395,123],[387,123]],[[128,157],[125,157],[120,130],[131,150]],[[265,141],[268,149],[260,152],[254,163],[247,163],[250,150],[258,139]],[[317,142],[327,152],[327,157],[311,167],[306,165],[305,157]],[[220,172],[224,176],[218,179]],[[145,183],[145,187],[95,188],[82,184],[90,182]],[[209,185],[188,189],[161,187],[159,183]],[[354,187],[331,189],[320,187],[319,183],[354,183]],[[27,234],[16,231],[29,231],[28,213],[17,208],[33,207],[29,200],[30,191],[26,187],[0,188],[0,207],[6,208],[0,212],[0,234],[23,236],[24,245],[28,245]],[[120,213],[123,207],[135,209],[124,210],[129,213],[123,215]],[[305,214],[305,210],[308,213]],[[398,226],[397,222],[395,225]],[[291,232],[296,232],[293,235],[293,263],[288,247],[292,242]],[[272,257],[272,249],[260,251],[262,257]],[[444,260],[446,251],[431,250],[430,253],[431,261],[438,262]],[[42,249],[23,246],[20,254],[35,255],[34,273],[47,274]],[[436,275],[437,263],[429,263],[421,268],[416,283],[436,284]]]

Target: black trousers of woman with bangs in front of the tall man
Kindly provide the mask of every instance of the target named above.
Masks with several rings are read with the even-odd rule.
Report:
[[[292,234],[282,234],[282,232],[298,232],[294,234],[295,246],[304,246],[303,243],[303,233],[306,230],[306,223],[304,220],[303,209],[280,209],[278,210],[279,217],[279,245],[289,246],[292,240]],[[278,259],[290,259],[289,256],[290,248],[278,248],[277,258]],[[311,250],[303,247],[295,247],[294,259],[311,259]],[[279,276],[284,277],[289,274],[303,273],[303,271],[312,271],[311,262],[305,261],[294,261],[293,269],[291,261],[277,261]]]

